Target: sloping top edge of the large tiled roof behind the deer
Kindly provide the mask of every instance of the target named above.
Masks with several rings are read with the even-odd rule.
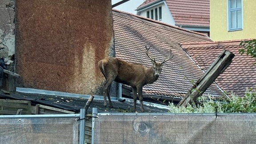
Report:
[[[177,29],[180,29],[180,30],[182,30],[182,31],[186,31],[186,32],[191,32],[191,33],[199,34],[199,35],[201,35],[201,36],[206,36],[205,34],[200,33],[200,32],[194,32],[194,31],[191,31],[191,30],[188,30],[188,29],[185,29],[185,28],[180,28],[180,27],[178,27],[178,26],[174,26],[174,25],[171,25],[171,24],[166,24],[166,23],[163,23],[163,22],[160,22],[160,21],[157,21],[157,20],[152,20],[152,19],[146,18],[146,17],[144,17],[144,16],[135,15],[135,14],[128,13],[128,12],[124,12],[124,11],[120,11],[120,10],[117,10],[117,9],[114,9],[114,8],[112,9],[112,11],[124,13],[124,14],[130,15],[130,16],[135,16],[135,17],[138,17],[138,18],[140,18],[140,19],[148,20],[148,21],[151,21],[151,22],[154,22],[154,23],[158,23],[158,24],[163,24],[163,25],[166,25],[166,26],[168,26],[168,27],[177,28]]]

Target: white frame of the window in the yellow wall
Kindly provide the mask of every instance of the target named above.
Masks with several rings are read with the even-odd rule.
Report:
[[[235,0],[236,4],[238,0]],[[236,7],[236,8],[231,8],[231,0],[227,0],[227,13],[228,13],[228,31],[232,32],[232,31],[238,31],[238,30],[242,30],[243,29],[243,0],[241,0],[241,7]],[[238,22],[238,16],[237,16],[237,12],[241,11],[241,26],[239,27],[237,25]],[[231,12],[236,12],[236,28],[232,28],[232,20],[231,20]]]

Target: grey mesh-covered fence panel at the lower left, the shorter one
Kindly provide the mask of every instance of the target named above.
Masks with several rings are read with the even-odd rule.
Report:
[[[0,144],[78,144],[76,118],[32,116],[0,116]]]

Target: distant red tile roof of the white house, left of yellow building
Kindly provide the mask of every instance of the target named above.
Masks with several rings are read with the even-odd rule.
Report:
[[[145,0],[138,8],[158,2]],[[176,25],[210,26],[210,0],[165,0]]]

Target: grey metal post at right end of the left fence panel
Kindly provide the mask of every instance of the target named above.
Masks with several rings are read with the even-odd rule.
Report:
[[[84,144],[84,131],[85,131],[85,108],[81,108],[80,120],[79,120],[79,144]]]

